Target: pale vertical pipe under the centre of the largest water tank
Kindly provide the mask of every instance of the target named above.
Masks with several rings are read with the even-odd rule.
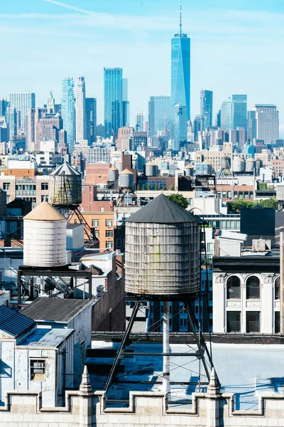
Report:
[[[170,302],[163,302],[163,391],[170,393]]]

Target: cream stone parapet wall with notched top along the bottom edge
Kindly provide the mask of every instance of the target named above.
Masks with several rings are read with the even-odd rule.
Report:
[[[284,395],[261,396],[257,411],[234,411],[234,394],[192,396],[192,409],[169,408],[162,393],[131,392],[129,408],[107,408],[103,391],[80,387],[67,392],[66,406],[42,408],[41,396],[31,391],[6,394],[0,407],[0,427],[231,427],[284,426]]]

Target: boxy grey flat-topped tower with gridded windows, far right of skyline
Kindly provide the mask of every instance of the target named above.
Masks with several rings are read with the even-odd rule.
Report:
[[[271,144],[279,138],[279,112],[276,105],[253,105],[256,112],[256,138],[263,139],[264,144]]]

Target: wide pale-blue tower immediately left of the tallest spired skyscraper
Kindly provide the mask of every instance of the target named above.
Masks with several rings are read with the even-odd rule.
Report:
[[[160,131],[168,135],[172,126],[171,116],[170,96],[151,96],[149,101],[148,136],[153,138]]]

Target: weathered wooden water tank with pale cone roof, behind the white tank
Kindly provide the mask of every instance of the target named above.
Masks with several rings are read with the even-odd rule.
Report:
[[[50,174],[49,202],[55,206],[78,206],[82,203],[82,174],[68,163]]]

